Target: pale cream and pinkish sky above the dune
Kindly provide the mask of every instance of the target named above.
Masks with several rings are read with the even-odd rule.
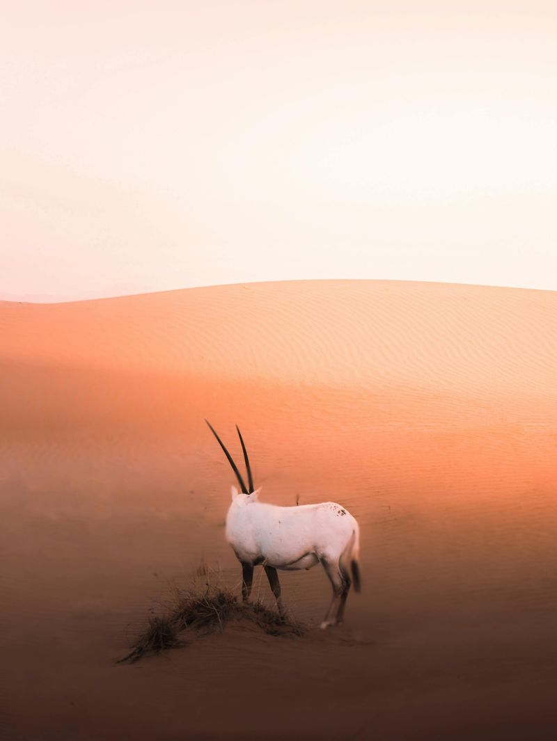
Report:
[[[557,4],[8,2],[0,299],[557,290]]]

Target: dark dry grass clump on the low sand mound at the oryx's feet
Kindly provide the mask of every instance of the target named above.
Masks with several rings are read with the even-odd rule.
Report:
[[[261,602],[240,602],[231,589],[211,585],[207,579],[201,590],[195,586],[188,590],[175,587],[165,611],[149,617],[131,652],[117,663],[136,662],[145,654],[185,645],[181,637],[184,632],[191,638],[222,633],[231,621],[253,623],[271,636],[299,637],[305,632],[299,622],[280,617]]]

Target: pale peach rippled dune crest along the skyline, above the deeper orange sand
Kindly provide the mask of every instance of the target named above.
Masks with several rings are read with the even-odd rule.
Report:
[[[544,393],[557,360],[550,291],[382,281],[195,288],[1,311],[25,362],[279,382]]]

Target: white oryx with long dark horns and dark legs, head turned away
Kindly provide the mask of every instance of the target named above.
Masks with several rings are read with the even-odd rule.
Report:
[[[349,511],[334,502],[297,507],[277,507],[260,502],[261,488],[254,491],[248,452],[238,425],[236,429],[248,472],[248,487],[223,441],[206,419],[205,422],[223,448],[240,484],[241,493],[232,486],[232,503],[226,515],[226,539],[242,564],[244,602],[251,592],[254,566],[262,564],[277,599],[280,616],[283,617],[277,568],[285,571],[307,570],[320,562],[333,588],[332,602],[321,628],[337,625],[343,619],[351,584],[349,568],[355,590],[360,591],[360,528],[356,520]]]

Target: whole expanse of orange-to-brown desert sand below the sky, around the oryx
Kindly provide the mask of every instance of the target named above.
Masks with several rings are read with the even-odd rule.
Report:
[[[277,282],[0,303],[1,738],[557,737],[557,293]],[[261,499],[333,500],[361,594],[283,573],[301,638],[237,624],[117,664]],[[254,597],[272,606],[260,568]]]

